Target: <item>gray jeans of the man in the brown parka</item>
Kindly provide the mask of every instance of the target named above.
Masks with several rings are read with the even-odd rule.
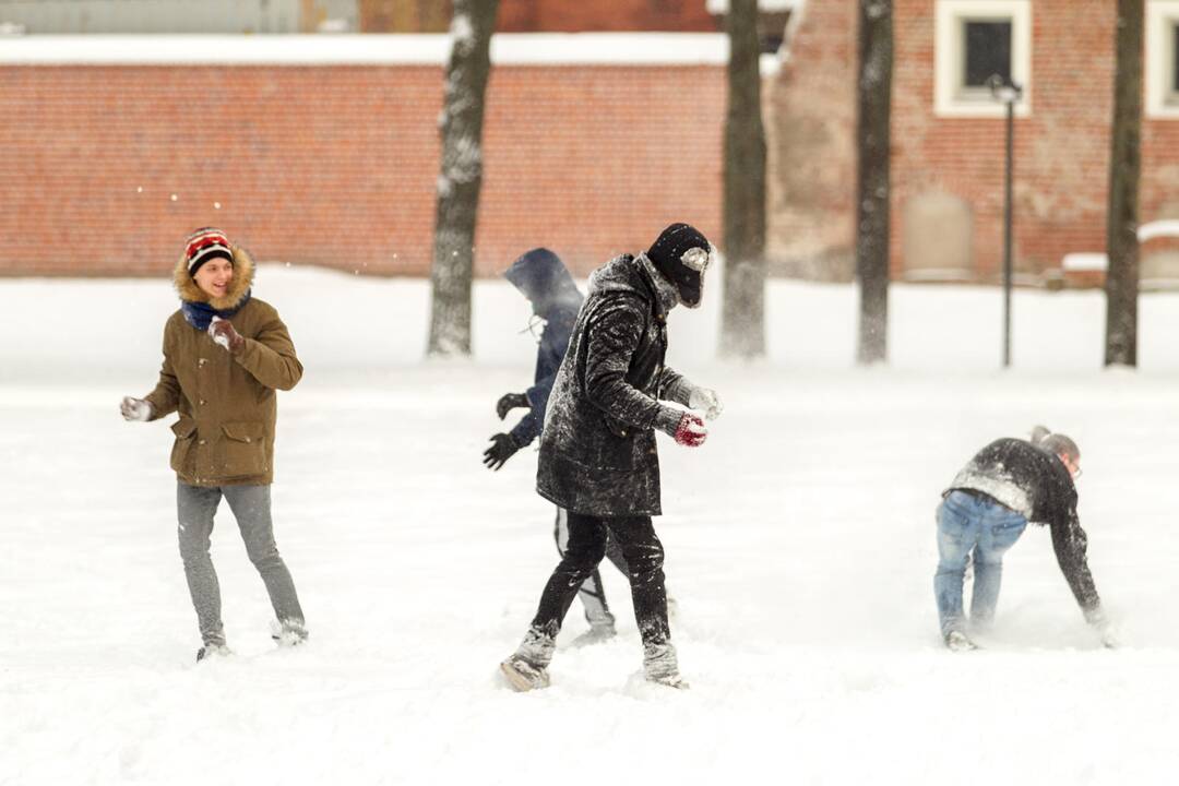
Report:
[[[209,556],[209,536],[213,531],[213,514],[225,497],[237,519],[250,562],[262,574],[270,605],[284,630],[304,632],[303,609],[295,594],[295,582],[275,546],[270,521],[269,486],[223,486],[202,488],[177,482],[176,508],[179,527],[180,559],[189,594],[197,610],[197,623],[205,645],[224,645],[225,628],[220,619],[220,584]]]

